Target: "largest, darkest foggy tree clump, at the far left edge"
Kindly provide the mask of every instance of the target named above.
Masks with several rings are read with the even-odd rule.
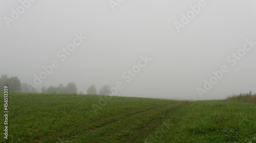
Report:
[[[17,76],[8,78],[8,75],[1,75],[0,78],[0,91],[4,91],[4,86],[8,86],[8,91],[10,92],[20,92],[20,80]]]

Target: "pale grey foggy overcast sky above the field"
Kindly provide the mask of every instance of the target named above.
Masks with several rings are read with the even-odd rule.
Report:
[[[91,84],[99,91],[121,82],[118,96],[204,100],[256,93],[256,44],[249,49],[245,40],[256,41],[254,0],[25,2],[27,8],[19,1],[0,1],[0,74],[34,84],[34,74],[56,61],[58,67],[38,91],[75,82],[78,93],[87,93]],[[62,48],[73,44],[75,35],[87,39],[65,59]],[[242,56],[236,60],[232,53],[238,51]],[[124,72],[137,68],[145,55],[152,60],[141,62],[145,66],[127,82],[122,75],[127,77]],[[228,72],[213,77],[222,66]],[[204,79],[210,78],[215,84],[205,89]],[[206,92],[200,96],[198,88]]]

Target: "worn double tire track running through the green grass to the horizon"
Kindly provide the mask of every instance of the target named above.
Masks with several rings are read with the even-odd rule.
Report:
[[[179,102],[177,104],[166,105],[164,107],[160,106],[158,109],[143,112],[136,116],[130,116],[130,118],[126,118],[118,124],[107,126],[101,128],[101,130],[84,135],[83,138],[90,142],[104,142],[106,140],[111,140],[112,138],[122,140],[126,137],[126,139],[133,138],[132,140],[134,141],[138,138],[144,137],[145,135],[143,134],[151,132],[152,129],[157,128],[164,120],[162,115],[166,116],[166,113],[168,113],[170,110],[175,107],[182,106],[185,103],[187,102]],[[143,125],[140,125],[140,123],[143,123]],[[152,123],[153,125],[148,127],[148,130],[143,130],[148,124]],[[98,134],[101,134],[101,136],[99,137]],[[123,142],[125,142],[125,140],[123,140]]]

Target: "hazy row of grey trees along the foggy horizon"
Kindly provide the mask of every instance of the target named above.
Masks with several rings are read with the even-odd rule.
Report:
[[[0,78],[0,91],[4,91],[4,86],[8,86],[10,92],[23,92],[23,93],[38,93],[35,88],[32,88],[32,91],[29,90],[27,83],[20,83],[20,80],[17,76],[9,77],[7,74],[1,75]],[[62,83],[58,87],[42,87],[41,93],[45,94],[77,94],[77,87],[74,82],[69,82],[66,86]],[[79,94],[84,94],[80,92]],[[87,89],[87,94],[89,95],[110,95],[110,86],[104,85],[99,92],[97,92],[95,85],[92,84]]]

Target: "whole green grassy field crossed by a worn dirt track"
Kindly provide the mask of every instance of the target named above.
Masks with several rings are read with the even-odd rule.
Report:
[[[8,139],[2,116],[0,141],[256,142],[255,103],[102,98],[9,93]]]

